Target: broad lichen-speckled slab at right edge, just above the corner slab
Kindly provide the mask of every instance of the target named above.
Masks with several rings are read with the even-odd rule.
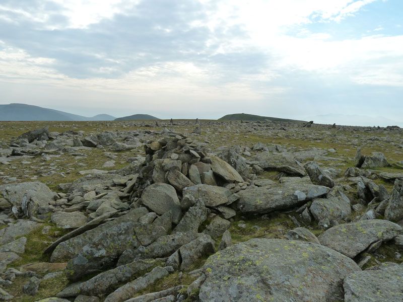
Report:
[[[373,219],[339,224],[323,232],[319,242],[354,258],[379,240],[388,241],[401,232],[401,226],[388,220]]]

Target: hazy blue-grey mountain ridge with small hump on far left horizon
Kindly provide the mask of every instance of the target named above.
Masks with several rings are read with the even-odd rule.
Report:
[[[85,117],[26,104],[0,105],[0,121],[110,121],[114,119],[114,116],[108,114]]]

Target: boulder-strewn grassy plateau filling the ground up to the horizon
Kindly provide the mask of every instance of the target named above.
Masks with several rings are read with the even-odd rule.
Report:
[[[0,301],[403,301],[403,129],[0,121]]]

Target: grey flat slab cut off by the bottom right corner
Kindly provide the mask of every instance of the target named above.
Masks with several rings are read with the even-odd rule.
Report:
[[[403,266],[383,263],[347,276],[343,282],[345,302],[403,301]]]

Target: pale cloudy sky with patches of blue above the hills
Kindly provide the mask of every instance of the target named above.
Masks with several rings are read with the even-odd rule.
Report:
[[[401,0],[0,0],[0,104],[403,126]]]

